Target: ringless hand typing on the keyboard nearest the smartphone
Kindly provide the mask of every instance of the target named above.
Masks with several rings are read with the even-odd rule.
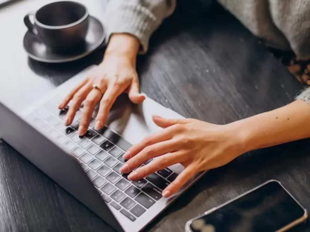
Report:
[[[246,152],[242,136],[238,136],[231,124],[215,125],[196,119],[164,119],[159,116],[153,116],[153,121],[165,129],[132,146],[124,155],[128,161],[121,172],[129,173],[157,157],[128,175],[130,180],[138,180],[181,163],[185,168],[163,191],[164,197],[177,192],[197,172],[225,165]]]

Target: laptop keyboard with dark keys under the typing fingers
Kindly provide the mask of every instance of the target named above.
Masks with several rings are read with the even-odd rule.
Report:
[[[82,109],[78,110],[73,123],[68,127],[64,125],[67,111],[68,108],[59,110],[57,101],[51,100],[34,110],[27,119],[37,130],[56,141],[78,160],[107,204],[135,221],[162,198],[162,190],[177,174],[166,168],[146,178],[129,181],[128,174],[122,174],[119,169],[126,162],[123,154],[132,145],[108,127],[95,130],[94,118],[86,135],[79,136]]]

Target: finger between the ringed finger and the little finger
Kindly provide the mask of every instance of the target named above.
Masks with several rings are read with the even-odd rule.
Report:
[[[67,116],[64,122],[66,126],[72,123],[76,112],[80,108],[82,102],[87,97],[88,93],[91,92],[91,90],[92,90],[91,83],[87,83],[82,88],[80,88],[80,90],[74,95],[72,102],[71,102],[72,104],[69,107],[69,110],[67,112]]]

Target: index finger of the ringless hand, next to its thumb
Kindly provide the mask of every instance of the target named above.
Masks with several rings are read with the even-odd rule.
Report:
[[[172,139],[172,137],[177,132],[178,132],[178,127],[173,126],[173,127],[166,128],[165,130],[158,131],[157,133],[154,133],[152,135],[148,135],[140,143],[135,144],[131,148],[129,148],[127,152],[123,155],[123,158],[126,160],[129,160],[130,158],[134,157],[136,154],[138,154],[144,148],[150,145]]]

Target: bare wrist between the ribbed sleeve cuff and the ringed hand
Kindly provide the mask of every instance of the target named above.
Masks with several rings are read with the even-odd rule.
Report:
[[[139,40],[126,33],[113,34],[110,37],[107,49],[104,56],[108,55],[122,55],[131,60],[136,60],[139,52]]]

